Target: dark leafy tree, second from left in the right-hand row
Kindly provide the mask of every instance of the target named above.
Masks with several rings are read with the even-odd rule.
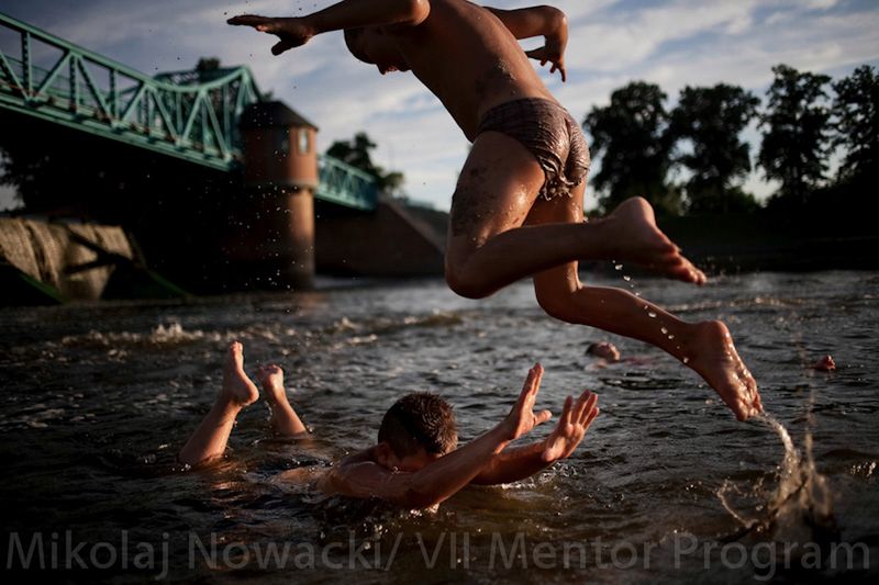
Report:
[[[689,211],[727,213],[756,206],[738,182],[750,172],[750,149],[739,134],[757,115],[759,103],[752,93],[725,83],[681,90],[669,134],[671,142],[692,143],[692,154],[678,157],[692,172],[686,183]]]

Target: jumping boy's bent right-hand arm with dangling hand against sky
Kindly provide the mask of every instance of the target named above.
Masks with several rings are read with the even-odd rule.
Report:
[[[498,16],[507,29],[516,38],[531,38],[543,36],[544,46],[525,53],[532,59],[546,65],[553,64],[550,74],[558,70],[561,81],[567,79],[565,70],[565,48],[568,45],[568,20],[565,13],[557,8],[539,5],[521,8],[518,10],[503,10],[486,7],[488,11]]]

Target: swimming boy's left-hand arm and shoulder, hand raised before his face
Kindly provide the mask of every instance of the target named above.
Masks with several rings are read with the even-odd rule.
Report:
[[[549,419],[533,412],[542,368],[536,365],[507,418],[460,449],[412,473],[393,473],[372,461],[353,460],[331,470],[322,480],[325,492],[352,497],[378,497],[407,508],[426,508],[448,498],[510,443]]]

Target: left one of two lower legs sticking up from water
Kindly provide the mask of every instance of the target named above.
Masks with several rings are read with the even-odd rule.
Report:
[[[223,454],[235,417],[259,397],[256,385],[244,373],[244,348],[237,341],[229,346],[223,367],[223,387],[211,410],[198,426],[177,459],[196,465]]]

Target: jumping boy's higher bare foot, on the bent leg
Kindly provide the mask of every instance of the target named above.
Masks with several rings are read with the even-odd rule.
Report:
[[[704,284],[705,274],[680,254],[656,226],[653,207],[644,198],[623,201],[605,220],[613,226],[617,260],[632,261],[666,277]]]

